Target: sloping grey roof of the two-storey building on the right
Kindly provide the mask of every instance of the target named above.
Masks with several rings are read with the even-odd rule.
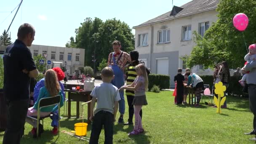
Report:
[[[142,27],[147,24],[155,23],[158,21],[160,22],[162,20],[171,19],[174,17],[184,16],[190,13],[196,13],[203,10],[212,10],[212,9],[215,10],[217,8],[218,3],[219,3],[219,0],[192,0],[189,3],[181,5],[180,7],[173,6],[172,11],[175,11],[175,12],[168,11],[167,13],[157,16],[154,19],[150,19],[149,21],[146,21],[135,27]],[[173,15],[173,13],[175,14]]]

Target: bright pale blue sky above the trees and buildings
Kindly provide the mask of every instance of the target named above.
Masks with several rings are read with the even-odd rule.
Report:
[[[173,5],[181,6],[189,1],[173,0]],[[1,0],[1,34],[8,29],[16,12],[8,16],[10,12],[3,11],[12,11],[19,3],[20,0]],[[11,39],[14,42],[19,26],[26,22],[36,30],[33,44],[64,47],[69,37],[75,37],[75,29],[86,17],[103,21],[116,18],[133,27],[171,9],[172,0],[23,0],[10,28]]]

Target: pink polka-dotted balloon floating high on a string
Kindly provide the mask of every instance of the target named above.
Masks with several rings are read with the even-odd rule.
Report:
[[[249,19],[244,13],[237,13],[233,18],[233,25],[239,31],[244,31],[248,23]]]

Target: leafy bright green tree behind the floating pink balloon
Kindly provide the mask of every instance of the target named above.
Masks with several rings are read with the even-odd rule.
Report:
[[[241,67],[244,64],[245,42],[247,48],[256,43],[256,1],[255,0],[220,0],[217,10],[218,20],[213,23],[201,37],[196,32],[196,46],[187,59],[187,66],[203,64],[204,67],[214,67],[221,61],[227,61],[230,68]],[[232,24],[237,13],[245,13],[249,24],[244,32],[240,32]],[[245,41],[243,38],[245,35]]]

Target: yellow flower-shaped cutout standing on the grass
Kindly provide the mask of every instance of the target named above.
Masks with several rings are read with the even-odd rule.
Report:
[[[226,97],[222,98],[224,96],[224,92],[226,91],[226,86],[223,85],[222,82],[219,83],[215,83],[215,94],[218,95],[218,99],[216,98],[216,96],[214,96],[214,102],[215,105],[217,106],[217,113],[221,113],[221,105],[224,104],[224,102],[226,101]]]

